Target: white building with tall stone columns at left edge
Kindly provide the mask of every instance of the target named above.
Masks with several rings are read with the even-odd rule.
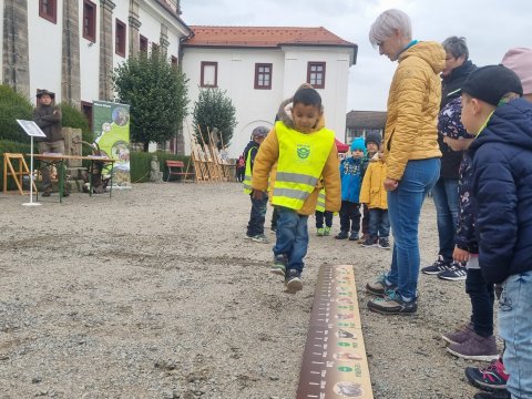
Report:
[[[191,34],[178,0],[2,0],[0,79],[34,102],[37,89],[90,115],[112,100],[111,73],[130,54],[158,47],[178,63]]]

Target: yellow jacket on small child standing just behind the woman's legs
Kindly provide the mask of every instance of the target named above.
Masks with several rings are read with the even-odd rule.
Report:
[[[360,203],[371,208],[388,209],[388,193],[385,190],[386,163],[376,154],[369,162],[360,188]]]

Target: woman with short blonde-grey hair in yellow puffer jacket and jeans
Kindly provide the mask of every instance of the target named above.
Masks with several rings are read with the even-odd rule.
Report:
[[[385,160],[393,256],[388,273],[366,285],[374,295],[369,309],[381,314],[413,314],[418,309],[418,225],[421,205],[440,175],[437,120],[440,72],[446,51],[437,42],[412,40],[410,18],[400,10],[381,13],[369,41],[399,64],[388,96]]]

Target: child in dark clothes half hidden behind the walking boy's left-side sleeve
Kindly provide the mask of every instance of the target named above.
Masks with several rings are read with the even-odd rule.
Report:
[[[249,223],[247,224],[246,238],[256,243],[267,244],[268,238],[264,235],[264,222],[266,216],[266,206],[268,204],[268,195],[265,193],[263,198],[255,200],[252,194],[252,173],[255,156],[258,147],[268,134],[269,129],[265,126],[255,127],[252,132],[252,141],[247,143],[244,150],[244,160],[246,161],[246,173],[244,176],[244,193],[252,198],[252,212],[249,214]]]

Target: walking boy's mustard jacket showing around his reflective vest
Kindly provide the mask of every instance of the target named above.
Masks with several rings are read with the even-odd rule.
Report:
[[[285,100],[279,108],[279,119],[288,127],[294,129],[294,121],[287,112],[287,106],[291,103],[291,99]],[[325,119],[321,116],[319,120],[316,131],[325,126]],[[309,133],[311,134],[311,133]],[[277,133],[275,127],[268,133],[264,142],[258,149],[257,156],[255,157],[255,164],[253,166],[253,177],[252,177],[252,187],[265,192],[269,186],[274,186],[275,183],[275,172],[277,166],[277,160],[279,157],[279,141],[277,139]],[[332,144],[332,147],[329,153],[329,157],[325,163],[324,170],[321,172],[323,184],[318,183],[314,192],[310,193],[308,198],[303,204],[303,207],[297,211],[300,215],[311,215],[316,211],[316,203],[318,201],[318,194],[323,186],[327,192],[325,198],[325,208],[331,212],[338,212],[341,206],[341,188],[340,188],[340,172],[338,163],[338,152],[336,145]],[[268,183],[269,180],[269,183]]]

